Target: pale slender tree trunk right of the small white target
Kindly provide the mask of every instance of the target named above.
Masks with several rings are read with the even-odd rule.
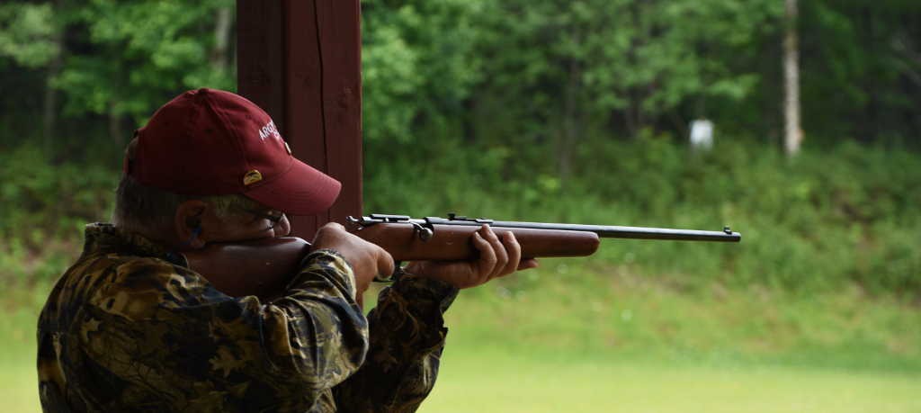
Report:
[[[788,156],[799,152],[803,140],[799,124],[799,42],[797,40],[797,0],[787,2],[787,29],[784,36],[784,143]]]

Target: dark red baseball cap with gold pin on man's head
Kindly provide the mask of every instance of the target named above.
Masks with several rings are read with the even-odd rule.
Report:
[[[313,215],[329,209],[342,188],[291,155],[268,113],[227,91],[182,93],[136,136],[125,173],[165,191],[241,194],[286,214]]]

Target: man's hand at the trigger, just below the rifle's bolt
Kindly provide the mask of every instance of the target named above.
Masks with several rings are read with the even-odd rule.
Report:
[[[355,271],[356,301],[364,305],[363,297],[368,284],[374,277],[390,277],[393,274],[393,257],[378,245],[362,240],[349,233],[344,227],[330,222],[317,230],[313,238],[313,250],[330,249],[341,254]]]

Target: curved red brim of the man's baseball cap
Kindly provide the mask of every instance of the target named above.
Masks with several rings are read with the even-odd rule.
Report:
[[[316,215],[332,207],[341,189],[339,181],[294,159],[282,176],[254,186],[243,195],[289,215]]]

